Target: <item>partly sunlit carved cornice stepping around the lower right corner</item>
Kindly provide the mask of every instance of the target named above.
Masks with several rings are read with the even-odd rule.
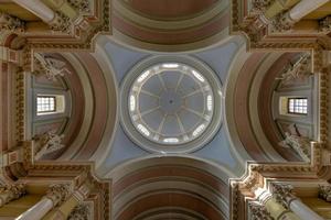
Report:
[[[311,143],[310,163],[248,163],[246,174],[239,179],[229,179],[231,185],[231,218],[241,219],[241,212],[245,209],[246,202],[256,200],[256,189],[267,188],[268,184],[274,189],[274,197],[285,207],[296,197],[291,194],[291,187],[281,183],[287,180],[319,180],[320,170],[323,168],[321,152],[323,146],[320,143]],[[273,182],[279,185],[273,185]],[[242,213],[247,216],[247,212]]]

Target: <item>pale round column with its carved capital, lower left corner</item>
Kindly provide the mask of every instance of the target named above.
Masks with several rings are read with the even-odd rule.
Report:
[[[15,220],[40,220],[50,210],[61,206],[70,195],[70,187],[65,184],[55,184],[50,186],[46,196],[29,210],[19,216]]]

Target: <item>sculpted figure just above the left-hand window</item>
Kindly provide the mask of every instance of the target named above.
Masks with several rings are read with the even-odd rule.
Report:
[[[55,81],[56,77],[71,74],[63,61],[40,53],[34,53],[33,74],[45,74],[46,78]]]

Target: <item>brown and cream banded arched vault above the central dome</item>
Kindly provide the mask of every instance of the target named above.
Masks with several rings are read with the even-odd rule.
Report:
[[[142,48],[195,50],[222,38],[228,26],[226,9],[228,2],[225,0],[116,0],[114,36]]]

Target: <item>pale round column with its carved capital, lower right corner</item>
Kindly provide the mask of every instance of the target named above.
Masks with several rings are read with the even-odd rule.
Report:
[[[322,220],[319,215],[312,211],[309,207],[301,202],[301,200],[292,195],[292,186],[289,184],[271,184],[273,196],[277,202],[285,208],[290,209],[302,220]]]

